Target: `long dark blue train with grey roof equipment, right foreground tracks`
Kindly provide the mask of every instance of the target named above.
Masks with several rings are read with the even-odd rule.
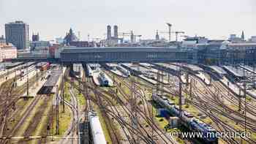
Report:
[[[153,94],[152,99],[158,105],[164,107],[171,115],[179,116],[179,108],[174,104],[174,102],[167,99],[167,97],[160,94]],[[195,118],[192,114],[185,110],[181,111],[181,120],[191,132],[202,132],[202,140],[204,140],[206,143],[218,143],[218,138],[215,137],[217,131],[209,124],[206,124],[200,119]],[[207,134],[210,134],[211,137],[206,137],[209,136]]]

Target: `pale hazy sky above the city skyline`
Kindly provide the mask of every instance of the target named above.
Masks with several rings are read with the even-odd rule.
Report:
[[[189,36],[227,39],[244,30],[249,38],[256,35],[253,7],[255,0],[0,0],[0,35],[5,23],[23,20],[30,36],[39,32],[43,40],[64,37],[70,27],[82,40],[104,38],[107,25],[154,39],[167,31],[165,23]]]

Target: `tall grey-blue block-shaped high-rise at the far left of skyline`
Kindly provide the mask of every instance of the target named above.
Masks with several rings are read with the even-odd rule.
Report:
[[[29,48],[29,25],[23,21],[5,24],[5,37],[7,43],[12,43],[18,50]]]

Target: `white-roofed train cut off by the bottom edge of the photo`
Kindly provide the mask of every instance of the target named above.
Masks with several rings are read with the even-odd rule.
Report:
[[[91,136],[94,144],[106,144],[105,135],[103,133],[102,126],[99,121],[97,112],[90,111],[88,114]]]

